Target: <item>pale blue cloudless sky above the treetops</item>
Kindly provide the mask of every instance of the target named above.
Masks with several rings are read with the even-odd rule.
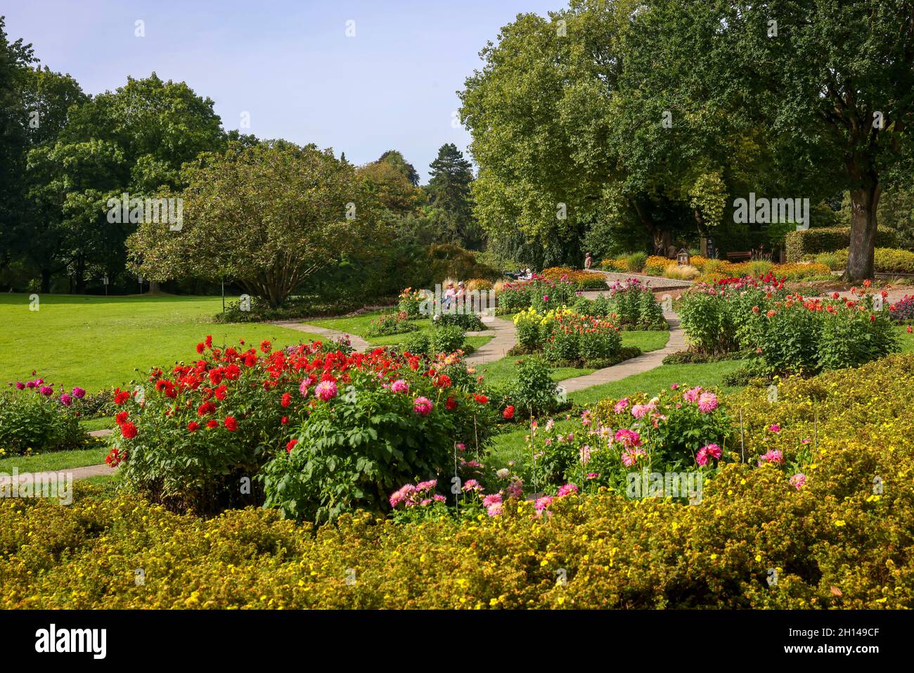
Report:
[[[83,91],[155,71],[216,103],[226,129],[250,112],[260,138],[333,147],[363,164],[398,149],[428,179],[479,50],[518,13],[563,0],[27,0],[7,2],[11,39]],[[145,37],[134,36],[134,22]],[[356,37],[346,37],[355,21]]]

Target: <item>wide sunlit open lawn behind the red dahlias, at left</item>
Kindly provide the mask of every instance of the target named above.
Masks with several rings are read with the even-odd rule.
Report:
[[[257,323],[219,325],[221,297],[42,294],[29,310],[28,294],[0,294],[0,383],[32,378],[90,392],[119,385],[153,366],[197,357],[207,335],[213,343],[276,346],[321,338]],[[235,301],[237,297],[227,297]]]

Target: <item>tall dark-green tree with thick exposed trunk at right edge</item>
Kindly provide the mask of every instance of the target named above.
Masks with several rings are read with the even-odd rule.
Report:
[[[781,166],[813,177],[779,196],[850,191],[845,278],[872,276],[879,198],[910,175],[914,3],[651,0],[633,22],[663,48],[654,78],[676,82],[686,113],[710,98],[755,114]]]

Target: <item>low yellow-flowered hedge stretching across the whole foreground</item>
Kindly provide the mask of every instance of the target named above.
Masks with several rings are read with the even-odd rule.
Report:
[[[356,513],[314,533],[271,511],[181,516],[91,486],[69,507],[5,498],[0,607],[914,607],[914,356],[779,389],[774,403],[764,387],[725,399],[748,461],[725,447],[696,505],[603,492],[539,518],[509,501],[478,521]],[[756,467],[766,450],[785,466]]]

